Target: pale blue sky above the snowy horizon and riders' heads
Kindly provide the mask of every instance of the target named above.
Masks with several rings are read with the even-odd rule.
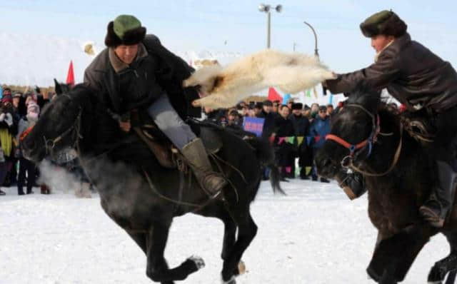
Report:
[[[119,14],[134,14],[174,51],[239,51],[266,46],[266,14],[261,1],[214,0],[0,0],[0,32],[85,39],[101,44],[106,24]],[[371,64],[374,51],[358,24],[382,9],[393,9],[413,39],[457,65],[457,1],[323,0],[266,2],[282,4],[271,15],[271,47],[313,53],[308,21],[318,33],[321,59],[343,72]],[[31,42],[31,45],[39,44]]]

